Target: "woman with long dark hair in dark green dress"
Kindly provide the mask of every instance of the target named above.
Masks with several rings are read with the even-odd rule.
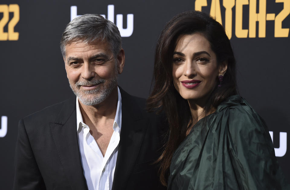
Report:
[[[156,47],[151,110],[169,129],[160,179],[168,189],[290,189],[263,119],[239,95],[224,28],[199,11],[173,17]],[[168,179],[168,182],[167,182]]]

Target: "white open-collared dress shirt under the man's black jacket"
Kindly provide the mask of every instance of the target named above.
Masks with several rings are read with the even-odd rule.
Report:
[[[76,98],[76,124],[79,141],[79,150],[82,160],[85,179],[89,190],[111,190],[118,155],[122,122],[121,93],[118,87],[118,105],[114,119],[114,132],[111,136],[105,156],[101,153],[97,142],[90,134],[89,126],[82,120],[79,109],[79,100]]]

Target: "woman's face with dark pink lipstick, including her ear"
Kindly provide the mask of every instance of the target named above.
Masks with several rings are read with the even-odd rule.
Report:
[[[186,100],[209,95],[224,75],[227,64],[217,63],[210,43],[200,33],[179,36],[173,53],[172,77],[176,90]]]

